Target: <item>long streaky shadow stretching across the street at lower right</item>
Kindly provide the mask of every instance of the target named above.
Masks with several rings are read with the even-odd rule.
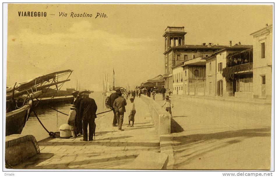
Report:
[[[181,161],[174,164],[174,169],[183,166],[191,162],[198,156],[204,155],[208,152],[215,151],[220,148],[227,147],[229,145],[239,143],[243,139],[241,138],[252,138],[252,137],[267,137],[271,136],[270,128],[258,128],[258,129],[241,129],[235,131],[223,131],[216,133],[202,133],[192,134],[187,136],[173,137],[174,143],[174,154],[184,153],[181,156]],[[230,141],[219,141],[229,138],[240,138]],[[189,153],[190,152],[190,153]],[[193,152],[193,153],[191,153]],[[189,153],[189,154],[186,154]],[[185,159],[183,160],[183,158]]]

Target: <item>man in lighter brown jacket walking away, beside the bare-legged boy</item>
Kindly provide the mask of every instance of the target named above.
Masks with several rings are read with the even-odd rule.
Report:
[[[120,93],[119,97],[114,100],[113,108],[117,113],[117,123],[118,123],[118,130],[123,131],[122,124],[123,124],[123,117],[124,112],[126,112],[125,106],[127,105],[125,98],[122,97]]]

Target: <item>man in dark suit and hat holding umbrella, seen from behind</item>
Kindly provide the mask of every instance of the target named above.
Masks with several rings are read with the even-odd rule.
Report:
[[[96,118],[97,105],[92,98],[89,98],[89,91],[83,90],[80,94],[83,97],[83,100],[80,103],[80,117],[82,118],[82,126],[83,126],[83,140],[87,141],[88,133],[87,127],[89,125],[89,141],[93,140],[93,131],[94,131],[94,120]]]

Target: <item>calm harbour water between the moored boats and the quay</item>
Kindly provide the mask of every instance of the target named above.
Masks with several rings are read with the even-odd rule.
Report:
[[[109,109],[106,109],[106,106],[104,103],[105,97],[102,95],[101,92],[93,92],[89,95],[89,97],[93,98],[97,104],[98,108],[96,113],[109,110]],[[48,106],[51,106],[52,108],[57,109],[58,111],[68,114],[70,110],[69,105],[70,104],[49,104]],[[48,131],[52,131],[52,132],[59,131],[59,127],[62,124],[67,123],[67,119],[68,119],[67,115],[54,111],[53,109],[50,109],[49,107],[47,107],[47,105],[45,106],[40,105],[35,110],[38,115],[38,118],[40,119],[40,121],[43,123],[43,125],[46,127]],[[37,118],[33,113],[30,115],[29,120],[26,122],[25,127],[21,134],[31,134],[35,136],[37,141],[49,137],[47,131],[43,129],[43,127],[38,122]]]

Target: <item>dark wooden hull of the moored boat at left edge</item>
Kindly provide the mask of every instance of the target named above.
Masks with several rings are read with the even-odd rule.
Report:
[[[6,113],[6,135],[21,134],[27,121],[32,101],[20,109]]]

